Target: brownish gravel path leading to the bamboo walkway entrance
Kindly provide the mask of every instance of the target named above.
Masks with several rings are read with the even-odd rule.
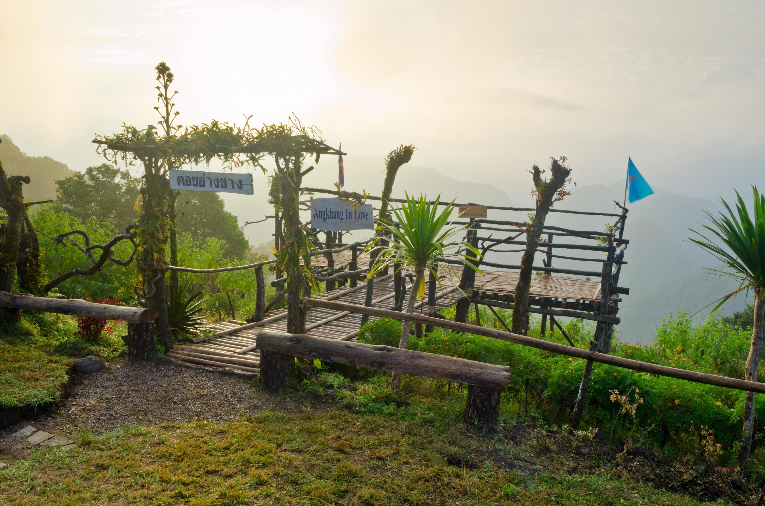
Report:
[[[100,433],[129,422],[234,420],[272,404],[243,379],[171,365],[113,361],[94,374],[74,375],[70,394],[58,410],[34,421],[25,420],[5,433],[28,423],[50,433],[74,436],[80,430]]]

